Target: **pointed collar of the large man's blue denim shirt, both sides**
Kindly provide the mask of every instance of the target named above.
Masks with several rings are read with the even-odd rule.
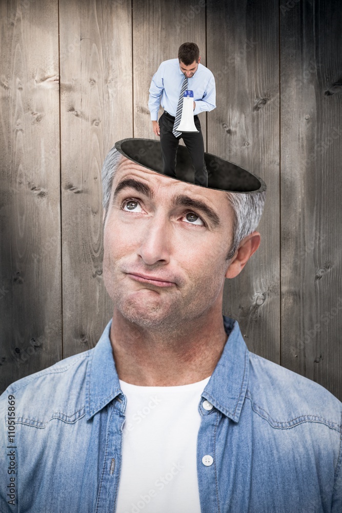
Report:
[[[232,421],[238,422],[248,384],[249,351],[237,321],[224,316],[228,336],[223,353],[202,396]],[[107,324],[96,344],[86,377],[86,416],[89,420],[122,394]]]

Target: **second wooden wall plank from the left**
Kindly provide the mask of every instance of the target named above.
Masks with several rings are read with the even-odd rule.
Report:
[[[59,2],[64,357],[94,346],[112,315],[102,278],[100,170],[132,132],[131,2]]]

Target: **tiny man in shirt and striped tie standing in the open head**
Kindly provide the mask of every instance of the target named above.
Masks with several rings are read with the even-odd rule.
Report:
[[[194,94],[194,123],[198,133],[176,130],[182,116],[185,90],[191,90]],[[153,132],[160,136],[164,173],[167,176],[176,176],[176,153],[180,137],[182,137],[195,169],[195,184],[208,186],[203,135],[197,114],[213,110],[216,107],[215,97],[214,75],[208,68],[200,64],[199,48],[195,43],[183,43],[179,47],[178,58],[162,62],[153,75],[149,109]],[[160,104],[164,113],[160,116],[158,123]]]

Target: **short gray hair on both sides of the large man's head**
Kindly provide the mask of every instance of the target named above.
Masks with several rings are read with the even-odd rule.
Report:
[[[115,146],[109,151],[102,167],[103,208],[105,219],[108,212],[110,194],[115,171],[122,159],[122,154]],[[233,242],[227,260],[233,258],[241,241],[252,233],[259,224],[265,204],[265,191],[258,193],[226,192],[228,201],[234,211]]]

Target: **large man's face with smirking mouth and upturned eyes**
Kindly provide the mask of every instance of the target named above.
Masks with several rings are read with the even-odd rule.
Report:
[[[159,329],[221,309],[232,226],[224,192],[123,158],[104,228],[104,280],[114,308]]]

